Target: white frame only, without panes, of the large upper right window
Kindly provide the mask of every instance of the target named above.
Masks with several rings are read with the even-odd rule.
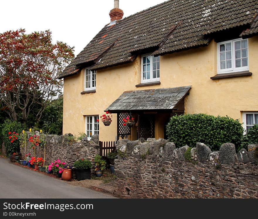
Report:
[[[247,66],[244,67],[235,67],[235,42],[241,41],[241,40],[247,40]],[[231,68],[228,69],[220,69],[220,45],[225,43],[231,43]],[[224,42],[217,43],[217,69],[218,74],[223,73],[230,73],[230,72],[242,72],[242,71],[248,71],[249,70],[249,43],[248,39],[242,39],[238,38],[235,40],[228,40]]]

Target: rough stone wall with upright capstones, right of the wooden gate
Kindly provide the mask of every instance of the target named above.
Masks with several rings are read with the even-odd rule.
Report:
[[[131,198],[257,198],[256,145],[236,154],[225,143],[211,152],[198,142],[185,160],[188,146],[176,148],[164,139],[119,140],[114,193]],[[188,150],[189,152],[190,150]]]

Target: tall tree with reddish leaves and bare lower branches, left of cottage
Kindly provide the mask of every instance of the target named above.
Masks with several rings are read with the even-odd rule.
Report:
[[[56,77],[74,58],[73,51],[66,43],[53,44],[49,30],[0,34],[0,102],[13,121],[21,113],[26,123],[33,113],[39,123],[46,106],[62,95],[63,82]]]

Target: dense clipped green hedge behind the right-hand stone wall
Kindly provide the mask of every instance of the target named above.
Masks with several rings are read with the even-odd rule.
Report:
[[[240,145],[243,128],[238,120],[228,116],[186,114],[173,116],[167,125],[167,133],[177,147],[195,146],[197,142],[202,142],[212,150],[219,150],[226,142]]]

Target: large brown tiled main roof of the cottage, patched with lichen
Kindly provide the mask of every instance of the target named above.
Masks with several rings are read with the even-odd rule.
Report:
[[[170,0],[106,25],[59,75],[78,67],[101,69],[134,60],[143,51],[164,55],[208,45],[209,34],[254,23],[257,0]],[[244,28],[245,26],[245,28]],[[257,34],[258,23],[248,35]]]

